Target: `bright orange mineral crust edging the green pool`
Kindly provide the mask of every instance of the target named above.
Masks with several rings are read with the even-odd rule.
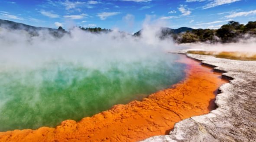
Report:
[[[187,64],[186,79],[172,88],[79,122],[65,120],[55,128],[0,132],[0,142],[136,142],[168,134],[176,122],[214,109],[216,90],[227,82],[200,62],[185,56],[178,62]]]

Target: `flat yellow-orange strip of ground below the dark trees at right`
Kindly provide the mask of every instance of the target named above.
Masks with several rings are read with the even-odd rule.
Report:
[[[256,53],[248,52],[213,52],[213,51],[188,51],[191,54],[211,55],[217,58],[243,60],[243,61],[256,61]]]

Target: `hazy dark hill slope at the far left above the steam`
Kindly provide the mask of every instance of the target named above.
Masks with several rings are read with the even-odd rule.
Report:
[[[39,35],[38,31],[41,31],[41,30],[47,30],[47,31],[49,31],[50,34],[52,34],[56,37],[62,37],[65,33],[67,33],[61,27],[59,29],[35,27],[35,26],[26,25],[23,23],[17,23],[17,22],[13,22],[13,21],[9,21],[9,20],[2,20],[2,19],[0,19],[0,27],[6,28],[9,30],[25,30],[32,36]]]

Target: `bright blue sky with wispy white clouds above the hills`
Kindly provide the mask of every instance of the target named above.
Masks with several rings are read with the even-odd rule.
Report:
[[[256,21],[256,0],[0,0],[0,19],[49,28],[96,26],[132,33],[149,17],[169,28],[219,28],[230,20],[246,24]]]

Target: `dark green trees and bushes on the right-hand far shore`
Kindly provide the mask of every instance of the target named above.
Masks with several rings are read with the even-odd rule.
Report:
[[[230,21],[217,30],[194,29],[181,34],[173,34],[172,36],[177,43],[230,43],[237,42],[238,39],[244,38],[246,34],[256,36],[256,21],[248,22],[246,25],[240,24],[239,22]]]

